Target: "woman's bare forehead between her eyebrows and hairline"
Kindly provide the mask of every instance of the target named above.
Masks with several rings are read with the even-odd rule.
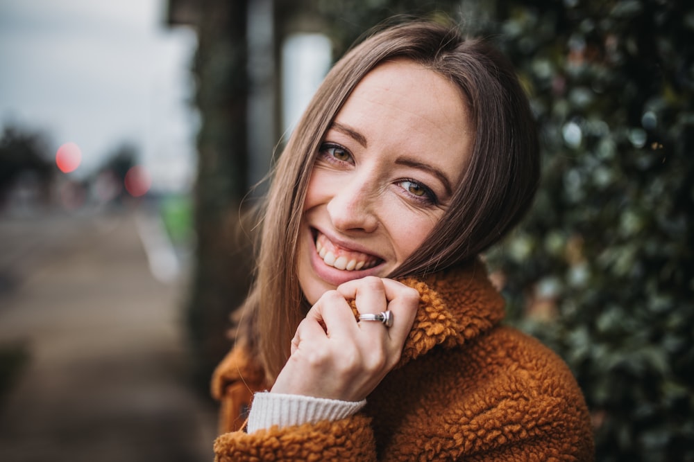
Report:
[[[369,145],[430,159],[453,181],[471,154],[466,99],[443,75],[411,60],[383,62],[355,87],[335,118]]]

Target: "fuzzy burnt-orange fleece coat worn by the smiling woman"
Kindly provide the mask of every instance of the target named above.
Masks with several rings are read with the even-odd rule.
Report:
[[[421,294],[412,332],[398,366],[355,416],[237,430],[265,384],[253,358],[232,350],[212,381],[226,432],[214,443],[215,460],[593,460],[573,376],[539,341],[500,326],[504,303],[482,264],[401,281]]]

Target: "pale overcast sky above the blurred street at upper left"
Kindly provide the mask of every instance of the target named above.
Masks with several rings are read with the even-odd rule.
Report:
[[[189,182],[195,35],[163,0],[0,0],[0,125],[80,146],[85,175],[135,144],[153,186]]]

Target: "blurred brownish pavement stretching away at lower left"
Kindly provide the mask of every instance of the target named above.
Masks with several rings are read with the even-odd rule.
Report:
[[[0,217],[0,347],[29,355],[0,402],[0,461],[212,461],[185,291],[152,276],[135,218]]]

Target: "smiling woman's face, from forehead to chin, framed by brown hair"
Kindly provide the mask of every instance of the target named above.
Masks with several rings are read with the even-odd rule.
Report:
[[[432,231],[472,152],[462,93],[409,60],[368,73],[317,154],[298,247],[306,299],[386,276]]]

